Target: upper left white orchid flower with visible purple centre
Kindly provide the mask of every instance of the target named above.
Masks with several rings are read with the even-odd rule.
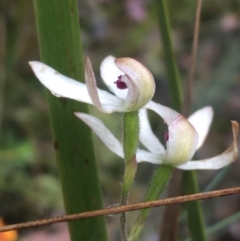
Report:
[[[105,113],[139,110],[152,99],[155,92],[152,74],[131,58],[108,56],[101,64],[102,79],[115,95],[97,88],[88,57],[85,60],[86,84],[66,77],[44,63],[32,61],[29,64],[40,82],[57,97],[93,104]]]

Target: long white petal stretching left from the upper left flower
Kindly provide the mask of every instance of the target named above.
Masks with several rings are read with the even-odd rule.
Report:
[[[60,74],[44,63],[31,61],[29,64],[39,81],[57,97],[93,104],[85,84]],[[104,90],[97,89],[97,93],[105,112],[124,111],[121,99]]]

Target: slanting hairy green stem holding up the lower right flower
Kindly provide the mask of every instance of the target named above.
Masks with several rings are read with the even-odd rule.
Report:
[[[168,165],[159,165],[156,172],[153,175],[153,178],[150,182],[150,185],[146,191],[144,202],[157,200],[162,193],[167,181],[169,180],[173,171],[172,166]],[[150,212],[150,209],[142,209],[140,214],[134,223],[130,234],[128,236],[128,241],[136,241],[140,235],[140,232],[143,229],[144,222]]]

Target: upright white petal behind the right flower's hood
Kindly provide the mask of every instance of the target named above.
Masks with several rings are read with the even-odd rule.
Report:
[[[213,119],[213,109],[210,106],[204,107],[196,112],[194,112],[188,121],[193,125],[198,133],[198,145],[199,149],[204,143],[206,136],[209,132],[210,125]]]

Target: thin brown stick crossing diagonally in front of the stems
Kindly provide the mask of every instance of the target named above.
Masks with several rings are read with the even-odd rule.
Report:
[[[101,209],[96,211],[65,215],[65,216],[60,216],[55,218],[31,221],[26,223],[13,224],[13,225],[0,227],[0,232],[6,232],[10,230],[15,230],[15,229],[37,227],[37,226],[49,225],[49,224],[60,223],[60,222],[68,222],[76,219],[91,218],[96,216],[116,214],[116,213],[127,212],[127,211],[134,211],[134,210],[139,210],[143,208],[171,205],[175,203],[185,203],[185,202],[190,202],[195,200],[202,200],[207,198],[214,198],[214,197],[227,196],[227,195],[233,195],[233,194],[240,194],[240,187],[227,188],[227,189],[222,189],[217,191],[197,193],[197,194],[179,196],[174,198],[167,198],[167,199],[156,200],[151,202],[141,202],[136,204],[124,205],[120,207],[113,207],[113,208]]]

